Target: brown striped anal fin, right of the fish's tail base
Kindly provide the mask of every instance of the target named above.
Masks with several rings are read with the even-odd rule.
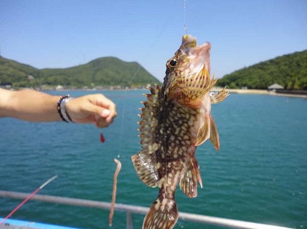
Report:
[[[202,177],[198,162],[193,156],[187,164],[186,170],[181,175],[180,189],[189,197],[197,196],[197,181],[203,188]]]

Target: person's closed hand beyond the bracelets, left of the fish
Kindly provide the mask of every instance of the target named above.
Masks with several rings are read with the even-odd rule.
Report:
[[[116,106],[102,94],[90,94],[67,102],[65,110],[76,123],[94,123],[98,128],[107,127],[116,117]]]

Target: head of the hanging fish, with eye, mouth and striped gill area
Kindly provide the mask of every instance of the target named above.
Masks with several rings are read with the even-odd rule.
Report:
[[[164,94],[187,106],[199,106],[216,83],[210,79],[210,48],[205,42],[196,44],[196,38],[186,34],[180,48],[166,62]]]

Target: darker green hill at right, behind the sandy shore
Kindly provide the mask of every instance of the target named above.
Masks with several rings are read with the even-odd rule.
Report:
[[[260,62],[226,74],[217,86],[267,89],[277,83],[287,89],[307,90],[307,50]]]

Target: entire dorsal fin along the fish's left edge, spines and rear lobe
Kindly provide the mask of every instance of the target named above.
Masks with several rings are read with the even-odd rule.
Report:
[[[147,101],[141,102],[144,108],[140,108],[142,114],[139,131],[143,150],[132,157],[134,167],[141,181],[150,187],[156,187],[158,184],[158,171],[156,150],[158,145],[155,142],[155,131],[157,126],[156,109],[158,107],[158,93],[160,87],[148,88],[151,94],[144,94]]]

